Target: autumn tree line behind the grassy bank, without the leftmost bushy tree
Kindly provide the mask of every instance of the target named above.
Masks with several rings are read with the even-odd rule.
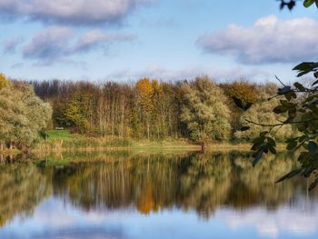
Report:
[[[52,127],[93,136],[136,139],[188,138],[195,142],[250,140],[262,126],[275,124],[279,104],[272,99],[278,86],[246,80],[216,84],[207,76],[192,81],[161,82],[143,78],[136,83],[95,84],[71,81],[33,81],[35,94],[52,105]],[[246,105],[241,110],[237,105]],[[277,139],[293,134],[283,125]]]

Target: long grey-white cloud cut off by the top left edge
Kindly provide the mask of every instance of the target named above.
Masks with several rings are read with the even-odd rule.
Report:
[[[0,0],[0,14],[71,25],[118,23],[153,0]]]

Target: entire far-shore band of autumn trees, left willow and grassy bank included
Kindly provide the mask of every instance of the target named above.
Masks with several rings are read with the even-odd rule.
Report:
[[[279,100],[267,100],[275,95],[278,86],[247,80],[217,84],[201,76],[191,81],[143,78],[130,84],[97,84],[59,80],[26,83],[9,81],[4,75],[2,78],[1,124],[10,122],[11,118],[6,119],[12,115],[9,112],[18,113],[17,118],[24,116],[27,122],[14,121],[10,125],[15,130],[10,130],[10,125],[1,127],[3,147],[39,143],[36,148],[56,149],[188,141],[204,148],[209,143],[248,142],[263,127],[254,124],[242,131],[247,121],[277,124],[282,117],[273,113]],[[15,96],[13,91],[17,92]],[[21,102],[20,108],[19,104],[8,104],[10,100]],[[240,110],[237,101],[247,109]],[[296,130],[284,125],[276,139],[284,141],[292,134]]]

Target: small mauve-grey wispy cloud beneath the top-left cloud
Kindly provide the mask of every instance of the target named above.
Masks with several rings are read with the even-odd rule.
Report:
[[[25,58],[36,59],[41,65],[52,65],[59,60],[79,53],[87,53],[96,48],[107,49],[109,45],[117,42],[132,41],[134,35],[103,33],[93,30],[80,35],[76,43],[75,30],[65,26],[51,26],[40,31],[33,40],[25,45],[23,55]]]

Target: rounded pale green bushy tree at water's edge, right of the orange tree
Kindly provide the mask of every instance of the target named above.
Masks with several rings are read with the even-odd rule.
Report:
[[[180,118],[187,125],[190,137],[202,144],[209,140],[228,139],[231,131],[230,111],[225,105],[223,90],[207,76],[185,82],[181,86],[183,105]]]

